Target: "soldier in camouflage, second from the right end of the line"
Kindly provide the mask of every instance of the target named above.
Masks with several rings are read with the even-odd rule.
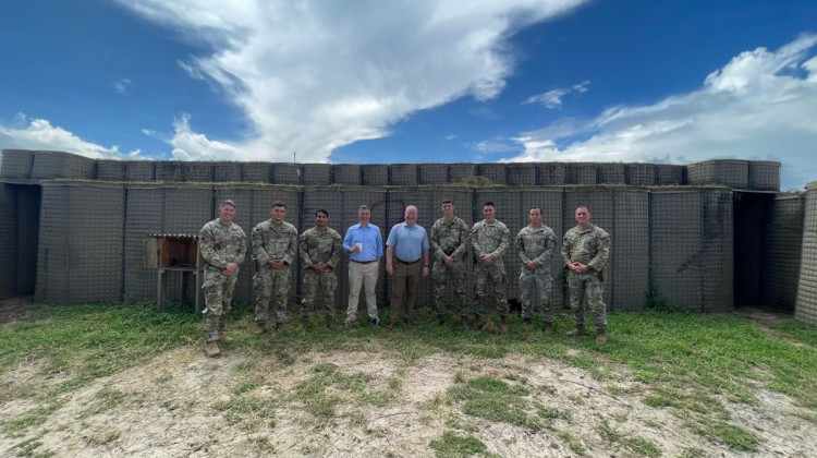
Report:
[[[516,252],[522,261],[520,272],[520,291],[522,292],[522,320],[529,326],[536,309],[545,315],[542,330],[553,333],[553,305],[550,291],[553,278],[550,275],[550,262],[556,249],[553,229],[541,224],[541,208],[531,208],[527,213],[528,226],[516,234]],[[539,297],[539,308],[531,303],[533,293]]]

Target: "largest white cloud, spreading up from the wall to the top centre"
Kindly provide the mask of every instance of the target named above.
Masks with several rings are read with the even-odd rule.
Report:
[[[228,146],[184,121],[173,138],[180,157],[284,160],[296,150],[304,161],[388,135],[417,110],[496,97],[515,64],[508,38],[585,1],[119,0],[209,47],[179,65],[217,85],[251,123]]]

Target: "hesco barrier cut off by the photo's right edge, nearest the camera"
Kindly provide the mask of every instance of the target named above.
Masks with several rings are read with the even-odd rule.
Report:
[[[817,181],[806,186],[804,215],[794,318],[817,325]]]

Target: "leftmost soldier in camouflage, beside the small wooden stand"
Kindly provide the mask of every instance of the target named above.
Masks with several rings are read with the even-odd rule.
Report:
[[[229,342],[232,338],[224,335],[224,322],[233,301],[235,280],[239,278],[239,265],[246,255],[247,237],[232,222],[235,217],[235,203],[227,200],[219,206],[219,218],[206,224],[199,232],[199,251],[205,261],[204,334],[207,343],[207,355],[221,354],[218,341]]]

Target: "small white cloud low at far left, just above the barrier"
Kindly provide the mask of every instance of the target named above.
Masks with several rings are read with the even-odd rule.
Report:
[[[123,153],[119,146],[101,146],[85,142],[45,119],[29,119],[23,113],[8,125],[0,124],[0,144],[7,149],[39,149],[74,153],[97,159],[134,159],[139,150]]]

